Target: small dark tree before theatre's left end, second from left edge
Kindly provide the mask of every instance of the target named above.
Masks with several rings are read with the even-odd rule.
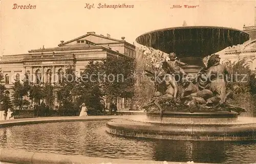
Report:
[[[22,80],[23,84],[19,80],[15,80],[13,89],[13,104],[19,107],[19,110],[23,108],[24,105],[29,105],[28,100],[24,100],[25,96],[28,96],[30,90],[28,75]]]

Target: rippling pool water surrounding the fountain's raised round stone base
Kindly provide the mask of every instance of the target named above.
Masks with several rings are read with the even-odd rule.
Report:
[[[190,142],[119,137],[105,132],[106,122],[62,122],[1,128],[0,149],[160,161],[256,162],[256,142]]]

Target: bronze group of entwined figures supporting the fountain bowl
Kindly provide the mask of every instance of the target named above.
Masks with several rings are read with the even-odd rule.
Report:
[[[145,75],[155,81],[157,88],[152,101],[143,106],[146,111],[160,111],[161,116],[166,110],[188,110],[190,112],[245,111],[241,107],[226,104],[226,99],[230,95],[230,92],[226,93],[225,78],[228,72],[225,66],[220,64],[219,55],[210,56],[207,67],[201,68],[193,79],[182,76],[184,74],[177,73],[177,70],[176,72],[175,70],[170,71],[172,66],[165,61],[162,68],[164,72],[156,75],[150,71],[145,71]]]

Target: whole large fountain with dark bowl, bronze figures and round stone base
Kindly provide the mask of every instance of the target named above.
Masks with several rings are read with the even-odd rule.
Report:
[[[207,66],[203,62],[249,38],[243,31],[223,27],[168,28],[139,36],[138,43],[168,53],[170,61],[158,72],[145,70],[157,90],[144,105],[146,118],[112,120],[107,131],[145,138],[255,140],[256,120],[238,117],[246,109],[226,102],[232,94],[226,89],[227,71],[220,57],[210,56]],[[176,60],[183,66],[174,65]]]

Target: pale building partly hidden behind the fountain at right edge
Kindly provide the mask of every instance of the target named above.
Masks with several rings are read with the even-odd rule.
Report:
[[[231,62],[245,59],[246,64],[250,69],[256,71],[256,26],[246,27],[244,25],[243,31],[250,34],[250,40],[242,45],[234,45],[219,52],[222,61],[230,60]]]

